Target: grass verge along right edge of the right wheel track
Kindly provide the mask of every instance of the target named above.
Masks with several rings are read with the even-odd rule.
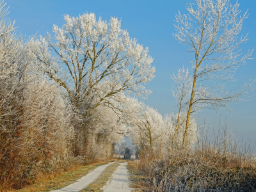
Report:
[[[134,192],[147,192],[152,191],[152,188],[147,184],[148,180],[143,175],[143,173],[136,168],[136,160],[129,161],[127,169],[129,172],[129,186],[133,189]]]

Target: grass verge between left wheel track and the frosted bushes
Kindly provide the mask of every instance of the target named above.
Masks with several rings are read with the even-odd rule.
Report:
[[[40,180],[27,188],[14,190],[15,192],[38,192],[38,191],[53,191],[64,188],[69,184],[76,182],[91,170],[99,167],[106,163],[94,163],[86,166],[76,166],[67,172],[61,173],[60,175],[49,175],[47,179]],[[9,191],[12,192],[12,191]]]

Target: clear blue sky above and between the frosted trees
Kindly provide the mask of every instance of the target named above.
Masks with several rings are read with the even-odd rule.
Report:
[[[231,0],[235,3],[237,0]],[[147,84],[153,93],[144,102],[158,109],[163,115],[175,112],[175,100],[172,97],[172,81],[170,74],[176,72],[182,65],[189,65],[193,55],[186,52],[186,47],[179,44],[172,34],[175,13],[180,10],[186,13],[188,0],[6,0],[10,6],[8,17],[16,20],[17,33],[31,36],[51,33],[52,25],[64,24],[63,15],[78,16],[82,13],[95,13],[97,17],[109,20],[110,17],[122,19],[122,29],[127,29],[131,38],[136,38],[144,47],[149,47],[154,58],[156,77]],[[256,1],[240,0],[242,13],[248,9],[249,19],[243,24],[243,33],[249,33],[250,40],[244,44],[243,50],[256,47]],[[256,57],[256,51],[253,54]],[[246,65],[237,70],[235,83],[243,85],[245,81],[256,78],[255,60],[249,60]],[[252,94],[256,95],[256,92]],[[234,103],[230,106],[233,111],[222,111],[221,120],[228,116],[228,127],[236,132],[236,137],[250,139],[253,146],[256,141],[256,97],[248,102]],[[200,113],[199,122],[211,125],[210,129],[218,125],[220,111],[204,110]]]

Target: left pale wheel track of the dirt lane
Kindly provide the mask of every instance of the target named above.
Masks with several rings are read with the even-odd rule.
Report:
[[[114,162],[112,162],[112,163],[114,163]],[[97,177],[100,175],[100,173],[102,173],[102,171],[112,163],[108,163],[108,164],[104,164],[102,166],[99,166],[98,168],[96,168],[92,172],[88,173],[87,175],[85,175],[81,179],[78,179],[73,184],[70,184],[69,186],[67,186],[65,188],[58,189],[58,190],[55,190],[55,191],[52,191],[52,192],[63,192],[63,191],[77,192],[77,191],[81,191],[82,189],[86,188],[86,186],[91,184],[95,179],[97,179]]]

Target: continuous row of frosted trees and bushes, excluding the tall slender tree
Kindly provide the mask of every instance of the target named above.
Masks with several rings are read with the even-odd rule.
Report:
[[[182,131],[173,137],[175,115],[163,120],[129,97],[150,93],[143,84],[155,68],[148,49],[120,28],[120,20],[65,15],[66,24],[54,26],[53,38],[24,40],[6,19],[3,1],[0,6],[2,189],[112,157],[113,143],[124,134],[141,153],[182,138]]]

